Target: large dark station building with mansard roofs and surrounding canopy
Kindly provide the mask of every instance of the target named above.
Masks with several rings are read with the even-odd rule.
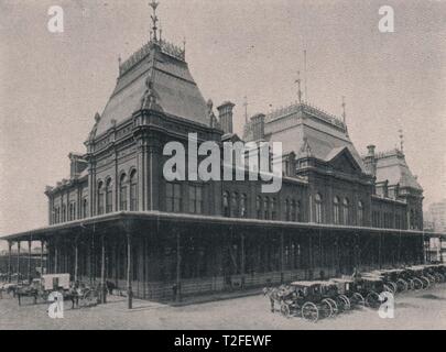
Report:
[[[423,261],[423,190],[402,151],[370,146],[361,156],[345,116],[302,101],[253,116],[239,136],[232,109],[224,102],[216,117],[184,48],[155,29],[120,64],[86,152],[69,154],[69,177],[46,188],[48,227],[10,244],[41,240],[48,272],[111,280],[142,298]],[[189,133],[220,146],[282,142],[281,190],[263,194],[260,180],[166,182],[163,148]]]

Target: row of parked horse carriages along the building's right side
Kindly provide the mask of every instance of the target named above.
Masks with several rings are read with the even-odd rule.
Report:
[[[446,264],[416,265],[353,274],[329,280],[302,280],[278,288],[265,288],[271,310],[276,305],[285,317],[300,316],[316,322],[357,307],[377,309],[383,293],[399,294],[427,289],[446,282]]]

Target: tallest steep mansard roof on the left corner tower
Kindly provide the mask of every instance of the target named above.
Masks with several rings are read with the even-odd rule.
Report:
[[[163,112],[208,125],[206,101],[185,62],[184,51],[164,41],[150,42],[120,66],[117,86],[101,114],[96,135],[141,109],[148,77],[152,77]]]

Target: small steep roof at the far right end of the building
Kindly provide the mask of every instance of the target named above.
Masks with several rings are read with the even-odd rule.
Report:
[[[401,188],[423,190],[405,162],[404,154],[399,151],[390,151],[377,154],[377,182],[389,180],[389,186],[400,185]]]

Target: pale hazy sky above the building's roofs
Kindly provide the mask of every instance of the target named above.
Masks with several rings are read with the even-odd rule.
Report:
[[[47,31],[64,9],[65,32]],[[395,33],[380,33],[392,6]],[[399,144],[425,191],[446,197],[446,2],[161,0],[163,36],[182,45],[205,99],[249,112],[296,100],[308,53],[308,100],[340,114],[360,153]],[[69,152],[85,152],[96,111],[115,88],[118,56],[149,40],[148,1],[0,0],[0,235],[47,224],[45,185],[67,177]]]

